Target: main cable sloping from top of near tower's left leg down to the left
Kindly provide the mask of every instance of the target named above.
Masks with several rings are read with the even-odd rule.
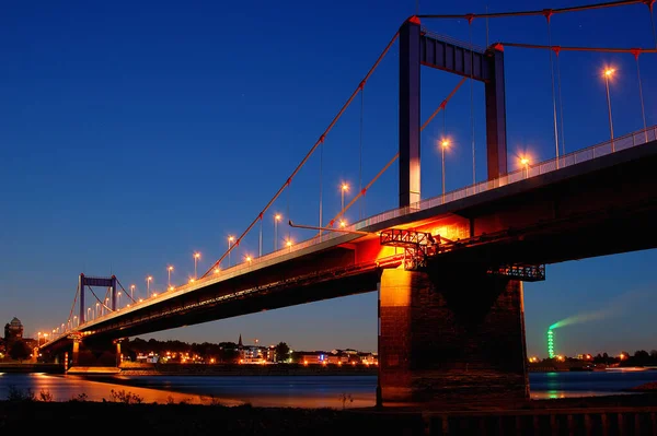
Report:
[[[335,126],[335,123],[337,122],[337,120],[343,116],[343,114],[345,113],[345,110],[347,109],[347,107],[349,107],[349,105],[351,104],[351,102],[356,97],[356,94],[358,94],[358,92],[360,91],[360,86],[361,85],[364,86],[367,83],[367,81],[369,80],[370,75],[372,75],[372,73],[374,72],[374,70],[377,69],[377,67],[379,67],[379,63],[381,63],[381,61],[383,60],[383,58],[385,57],[385,55],[390,50],[390,47],[392,47],[392,45],[394,44],[394,42],[396,40],[396,38],[399,37],[399,35],[400,35],[399,31],[395,32],[395,34],[390,39],[390,42],[388,43],[388,45],[385,46],[385,48],[383,49],[383,51],[381,51],[381,54],[379,55],[379,57],[377,58],[377,60],[374,61],[374,63],[372,64],[372,67],[369,69],[369,71],[367,72],[367,74],[365,74],[365,78],[360,81],[360,83],[358,84],[358,86],[356,87],[356,90],[351,93],[351,95],[349,96],[349,98],[347,98],[347,101],[345,102],[345,104],[343,104],[342,108],[337,111],[337,114],[335,115],[335,117],[333,117],[333,120],[328,123],[328,127],[326,127],[326,129],[324,130],[324,132],[320,135],[320,139],[318,139],[315,141],[315,143],[310,148],[310,151],[301,160],[301,162],[299,163],[299,165],[297,165],[297,167],[295,168],[295,170],[292,172],[292,174],[287,178],[287,180],[283,184],[283,186],[280,188],[278,188],[278,191],[276,191],[276,193],[274,195],[274,197],[272,197],[272,199],[269,200],[269,202],[267,202],[267,204],[258,213],[258,215],[255,217],[255,220],[253,220],[251,222],[251,224],[246,227],[246,229],[244,232],[242,232],[242,234],[237,238],[235,244],[233,244],[232,246],[230,246],[223,252],[223,255],[219,258],[219,260],[217,260],[215,263],[212,263],[212,266],[200,276],[200,279],[203,279],[206,275],[208,275],[215,269],[215,267],[217,267],[218,264],[221,263],[221,261],[234,249],[235,246],[239,246],[240,241],[244,238],[244,236],[246,236],[246,234],[249,234],[249,232],[257,223],[257,220],[260,219],[260,216],[264,215],[267,212],[267,210],[272,207],[272,204],[274,204],[274,202],[276,201],[276,199],[278,199],[278,197],[280,197],[280,195],[283,193],[283,191],[287,187],[289,187],[292,178],[295,178],[295,176],[299,173],[299,170],[301,169],[301,167],[303,167],[303,165],[306,165],[306,163],[308,162],[308,160],[310,158],[310,156],[314,153],[314,151],[318,149],[318,146],[320,146],[321,142],[326,137],[326,134],[328,134],[328,132],[333,129],[333,127]]]

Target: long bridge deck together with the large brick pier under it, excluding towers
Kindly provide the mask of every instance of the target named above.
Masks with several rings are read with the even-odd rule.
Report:
[[[424,401],[422,392],[464,389],[470,380],[469,399],[484,389],[521,400],[520,281],[544,280],[546,263],[657,247],[657,129],[645,133],[615,140],[614,152],[599,144],[326,229],[117,308],[42,349],[379,290],[383,398]],[[463,341],[471,344],[465,352],[457,346]],[[487,385],[475,388],[481,377]]]

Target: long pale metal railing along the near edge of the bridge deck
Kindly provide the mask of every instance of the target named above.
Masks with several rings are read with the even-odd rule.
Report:
[[[572,165],[576,165],[583,162],[591,161],[597,157],[601,157],[614,152],[619,152],[622,150],[631,149],[633,146],[637,146],[641,144],[645,144],[650,141],[655,141],[657,139],[657,126],[653,126],[645,130],[638,130],[633,133],[629,133],[624,137],[615,138],[613,141],[606,141],[599,144],[589,146],[587,149],[578,150],[558,158],[554,157],[548,161],[543,161],[535,165],[527,165],[520,169],[517,169],[511,173],[507,173],[504,176],[492,180],[481,181],[475,185],[466,186],[464,188],[460,188],[450,192],[446,192],[443,196],[437,196],[434,198],[429,198],[411,205],[404,208],[392,209],[377,215],[370,216],[368,219],[358,221],[351,225],[345,227],[345,231],[361,231],[367,228],[373,224],[378,224],[381,222],[385,222],[388,220],[396,219],[400,216],[407,215],[410,213],[423,211],[426,209],[431,209],[441,204],[447,204],[452,201],[461,200],[466,197],[471,197],[481,192],[486,192],[506,185],[510,185],[520,180],[525,180],[530,177],[535,177],[542,174],[551,173],[556,169],[565,168]],[[169,297],[173,294],[178,294],[187,291],[193,291],[197,287],[207,286],[208,284],[219,282],[226,276],[227,272],[231,273],[233,276],[239,275],[241,273],[245,273],[252,270],[254,266],[266,262],[268,260],[273,260],[279,258],[284,255],[300,251],[304,248],[309,248],[312,246],[316,246],[319,244],[338,238],[344,236],[345,233],[341,232],[324,232],[321,236],[316,235],[310,239],[302,240],[298,244],[295,244],[289,247],[280,248],[276,251],[269,252],[267,255],[252,258],[250,261],[243,261],[242,263],[235,264],[233,267],[229,267],[227,269],[220,270],[219,273],[214,273],[207,275],[205,278],[198,279],[193,283],[186,283],[181,286],[175,287],[172,291],[166,291],[161,294],[158,294],[158,297],[147,298],[143,302],[135,303],[130,306],[130,308],[145,306],[153,301],[159,299],[159,297]],[[115,313],[107,314],[113,315]],[[106,316],[100,317],[100,319],[105,318]],[[95,321],[95,319],[94,319]],[[67,333],[68,334],[68,333]],[[65,335],[65,334],[61,334]],[[57,338],[58,339],[58,338]],[[55,339],[53,339],[55,340]]]

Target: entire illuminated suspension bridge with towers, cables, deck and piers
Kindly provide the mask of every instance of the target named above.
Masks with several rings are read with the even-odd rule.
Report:
[[[649,13],[646,25],[654,35],[646,47],[552,45],[554,15],[641,3]],[[657,52],[653,5],[654,0],[615,1],[537,11],[411,16],[299,165],[244,231],[229,238],[227,250],[210,268],[183,285],[169,283],[164,291],[149,290],[146,298],[135,297],[134,286],[114,275],[80,274],[66,322],[53,329],[39,351],[50,355],[71,352],[72,365],[83,365],[81,346],[116,346],[118,356],[120,340],[136,334],[378,291],[379,402],[503,404],[527,400],[522,282],[545,280],[545,264],[657,247],[653,231],[657,219],[653,169],[657,128],[646,123],[639,70],[639,58]],[[472,37],[468,43],[458,42],[429,30],[436,20],[465,20],[471,28],[480,19],[537,15],[545,19],[548,45],[498,42],[479,48]],[[280,247],[275,243],[272,252],[264,252],[263,221],[274,216],[275,232],[279,222],[285,224],[281,215],[273,213],[273,205],[311,156],[319,153],[321,158],[326,139],[359,95],[362,120],[364,91],[381,61],[395,49],[399,152],[371,180],[362,180],[361,134],[359,181],[351,199],[345,204],[345,185],[339,212],[326,217],[320,188],[315,224],[296,222],[289,214],[285,217],[289,228],[308,237],[300,241],[288,238]],[[514,170],[509,170],[505,99],[509,86],[505,83],[505,56],[512,56],[510,49],[549,52],[554,127],[553,157],[543,162],[521,157]],[[634,57],[639,130],[621,135],[614,131],[609,83],[615,71],[606,68],[600,79],[607,90],[609,140],[565,152],[558,66],[564,51]],[[419,110],[422,67],[462,78],[425,119]],[[420,132],[445,111],[465,82],[484,85],[486,178],[476,178],[472,123],[472,185],[445,189],[445,151],[451,146],[445,135],[437,144],[442,152],[442,192],[423,197]],[[394,164],[399,165],[399,207],[347,222],[347,211],[365,201]],[[233,264],[231,254],[247,237],[256,238],[258,256],[246,256]],[[96,292],[99,288],[103,293]]]

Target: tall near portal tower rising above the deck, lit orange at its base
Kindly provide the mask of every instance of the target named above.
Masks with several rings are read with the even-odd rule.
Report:
[[[419,19],[400,28],[400,208],[420,200],[419,69],[436,68],[484,83],[488,179],[507,173],[504,52],[494,45],[485,51],[431,37]]]

